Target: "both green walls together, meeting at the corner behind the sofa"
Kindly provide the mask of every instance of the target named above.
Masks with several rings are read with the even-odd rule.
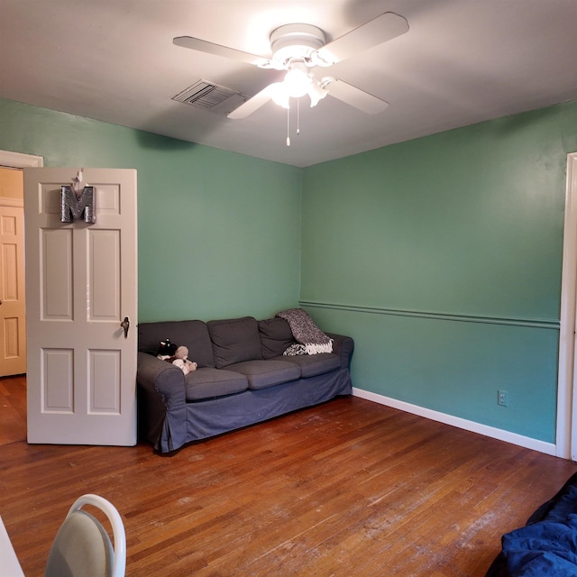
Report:
[[[554,443],[577,102],[298,169],[0,99],[0,150],[138,170],[141,321],[300,295],[356,387]]]

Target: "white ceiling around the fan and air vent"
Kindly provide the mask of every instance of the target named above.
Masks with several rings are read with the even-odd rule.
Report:
[[[252,96],[275,74],[175,36],[268,57],[282,24],[330,41],[384,12],[409,31],[327,69],[389,102],[380,114],[301,105],[287,147],[272,101],[230,120],[172,100],[199,79]],[[0,55],[2,97],[304,167],[576,99],[577,0],[0,0]]]

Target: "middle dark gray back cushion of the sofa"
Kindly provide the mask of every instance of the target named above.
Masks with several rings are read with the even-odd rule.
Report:
[[[206,323],[217,369],[234,362],[262,359],[259,325],[252,316]]]

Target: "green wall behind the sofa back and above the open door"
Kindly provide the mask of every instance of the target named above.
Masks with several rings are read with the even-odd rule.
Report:
[[[2,99],[0,150],[138,170],[139,320],[298,304],[301,169]]]

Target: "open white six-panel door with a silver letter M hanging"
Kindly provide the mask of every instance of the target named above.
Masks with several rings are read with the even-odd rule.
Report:
[[[24,169],[28,442],[133,445],[136,171],[81,174],[94,224],[60,220],[78,169]]]

